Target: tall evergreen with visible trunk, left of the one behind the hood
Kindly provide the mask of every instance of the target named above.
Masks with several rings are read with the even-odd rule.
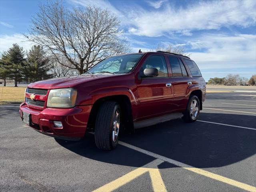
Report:
[[[12,47],[7,50],[4,58],[8,77],[15,81],[15,87],[17,87],[17,82],[22,80],[22,68],[24,67],[25,61],[24,54],[25,51],[21,46],[12,44]]]

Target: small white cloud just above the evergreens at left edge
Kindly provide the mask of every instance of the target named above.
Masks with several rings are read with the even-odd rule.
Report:
[[[0,35],[0,53],[7,51],[14,43],[22,46],[24,50],[30,50],[33,45],[22,34]]]

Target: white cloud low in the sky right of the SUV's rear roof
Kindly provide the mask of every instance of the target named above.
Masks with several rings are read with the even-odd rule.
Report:
[[[209,72],[211,69],[229,69],[231,72],[243,68],[256,73],[256,35],[206,34],[188,43],[192,50],[206,50],[191,52],[191,59],[195,60],[200,69]]]

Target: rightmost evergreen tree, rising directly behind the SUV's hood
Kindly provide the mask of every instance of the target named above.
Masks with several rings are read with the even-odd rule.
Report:
[[[27,54],[27,60],[23,68],[26,81],[39,81],[51,78],[49,74],[50,64],[42,46],[34,45]]]

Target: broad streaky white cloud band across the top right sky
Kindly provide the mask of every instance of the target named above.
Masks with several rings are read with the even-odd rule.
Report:
[[[134,10],[128,15],[132,26],[129,32],[141,36],[162,36],[180,32],[191,35],[193,30],[219,29],[222,26],[255,25],[256,1],[191,2],[187,8],[167,4],[159,10]]]

